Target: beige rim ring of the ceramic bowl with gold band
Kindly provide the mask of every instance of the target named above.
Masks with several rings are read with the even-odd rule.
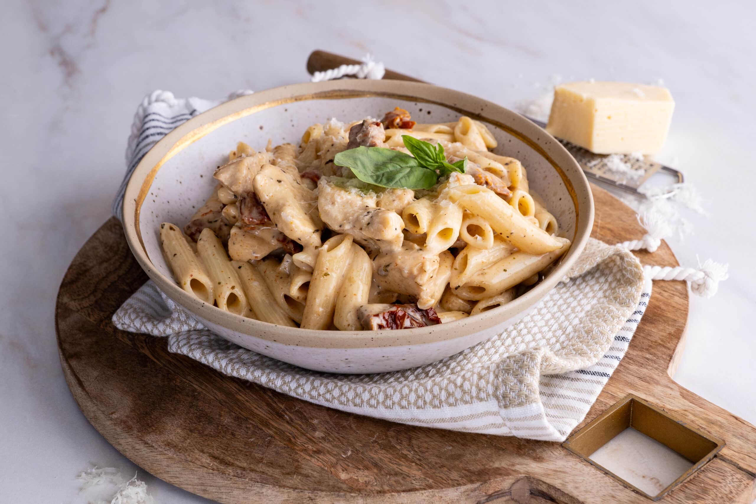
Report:
[[[437,104],[460,114],[488,122],[507,131],[536,150],[559,172],[575,205],[575,235],[569,252],[538,286],[507,305],[451,323],[394,331],[327,331],[277,326],[253,320],[208,305],[184,292],[172,278],[153,267],[139,229],[139,212],[160,167],[184,147],[209,132],[260,110],[302,100],[392,97]],[[492,119],[496,115],[503,120]],[[380,348],[421,345],[460,338],[513,319],[538,303],[563,277],[583,251],[593,227],[593,196],[578,162],[542,128],[511,110],[471,94],[419,82],[339,80],[287,85],[238,97],[218,105],[178,126],[144,156],[126,186],[122,222],[126,240],[137,261],[163,292],[191,313],[227,329],[286,345],[311,348]]]

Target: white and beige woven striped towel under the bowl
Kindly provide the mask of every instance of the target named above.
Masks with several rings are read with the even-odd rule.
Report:
[[[129,139],[129,172],[163,135],[215,103],[176,100],[163,91],[145,98]],[[116,215],[121,199],[119,193]],[[437,363],[375,375],[318,373],[240,348],[205,329],[152,282],[116,311],[113,323],[167,337],[170,351],[221,373],[338,410],[563,441],[627,351],[650,295],[651,281],[631,252],[590,240],[569,277],[519,323]]]

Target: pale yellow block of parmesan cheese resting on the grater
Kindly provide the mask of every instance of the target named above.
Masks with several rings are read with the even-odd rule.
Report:
[[[667,88],[570,82],[554,89],[546,131],[596,154],[652,154],[667,139],[673,110]]]

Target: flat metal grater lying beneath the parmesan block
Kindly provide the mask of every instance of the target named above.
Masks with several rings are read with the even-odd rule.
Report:
[[[527,117],[535,124],[541,126],[541,128],[546,128],[545,122],[538,121],[538,119],[533,119],[532,117],[525,117]],[[559,140],[559,138],[557,138],[557,140]],[[609,163],[607,162],[607,159],[609,159],[608,155],[605,156],[603,154],[594,154],[590,152],[590,150],[586,150],[583,147],[578,147],[575,144],[570,144],[568,141],[559,140],[559,143],[564,145],[567,150],[569,150],[569,153],[571,153],[575,160],[580,164],[580,167],[583,169],[585,175],[587,175],[588,178],[612,187],[616,187],[617,189],[631,193],[634,196],[638,196],[640,198],[646,198],[646,195],[640,193],[638,191],[638,187],[643,185],[643,183],[651,178],[651,176],[656,172],[667,172],[670,175],[673,175],[674,178],[677,178],[677,183],[683,182],[682,173],[678,172],[674,168],[670,168],[669,166],[661,165],[658,162],[653,162],[650,159],[637,159],[634,156],[629,156],[627,154],[619,154],[623,162],[626,162],[631,166],[631,169],[637,170],[637,172],[639,173],[639,175],[637,176],[627,177],[622,174],[618,174],[611,169]]]

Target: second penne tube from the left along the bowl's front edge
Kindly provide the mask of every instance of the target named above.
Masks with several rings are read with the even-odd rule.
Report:
[[[232,314],[246,316],[249,312],[249,304],[241,289],[239,277],[231,266],[223,243],[211,229],[204,229],[200,233],[200,240],[197,240],[197,253],[206,267],[208,277],[212,280],[215,304],[218,308]]]

